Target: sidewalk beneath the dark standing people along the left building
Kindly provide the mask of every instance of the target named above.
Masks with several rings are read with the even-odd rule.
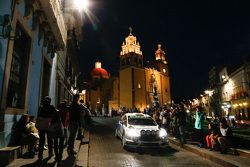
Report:
[[[76,140],[75,142],[75,150],[77,151],[77,155],[68,156],[67,148],[63,150],[63,159],[62,159],[62,167],[87,167],[88,165],[88,148],[89,148],[89,131],[84,132],[84,138],[82,141]],[[37,163],[37,155],[34,158],[25,157],[18,158],[9,164],[7,167],[34,167],[34,166],[56,166],[55,156],[51,159],[46,159],[48,157],[48,150],[44,150],[44,160],[41,165]]]

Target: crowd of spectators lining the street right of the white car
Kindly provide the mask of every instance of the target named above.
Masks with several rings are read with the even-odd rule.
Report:
[[[162,128],[167,130],[169,136],[178,139],[181,144],[187,143],[187,133],[191,126],[191,131],[194,132],[192,135],[196,136],[192,139],[198,141],[198,147],[210,151],[220,151],[222,154],[226,153],[229,148],[234,148],[231,126],[236,125],[233,121],[231,126],[225,117],[218,118],[213,122],[208,121],[202,106],[195,106],[191,110],[192,114],[190,108],[184,103],[180,103],[162,107],[147,107],[143,112],[151,115]],[[127,108],[118,110],[119,115],[127,112],[139,112],[139,110]]]

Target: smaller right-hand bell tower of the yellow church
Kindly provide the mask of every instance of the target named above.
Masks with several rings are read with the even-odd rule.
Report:
[[[158,44],[158,49],[155,52],[155,60],[150,63],[150,67],[161,72],[163,75],[169,76],[168,74],[168,63],[166,61],[166,54],[161,49],[161,44]]]

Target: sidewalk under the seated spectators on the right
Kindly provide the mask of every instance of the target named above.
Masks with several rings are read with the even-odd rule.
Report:
[[[246,152],[244,150],[238,150],[240,156],[236,156],[230,152],[228,154],[221,154],[220,152],[217,151],[209,151],[208,149],[205,148],[199,148],[197,147],[198,144],[197,142],[187,141],[187,144],[184,144],[182,147],[180,142],[177,139],[174,139],[173,137],[169,137],[169,142],[170,144],[180,146],[180,149],[185,149],[187,151],[190,151],[194,154],[197,154],[203,158],[206,158],[222,166],[249,167],[250,164],[250,158],[249,157],[247,158],[247,156],[250,155],[250,152]]]

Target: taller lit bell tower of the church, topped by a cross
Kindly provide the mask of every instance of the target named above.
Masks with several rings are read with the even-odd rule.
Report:
[[[132,35],[132,28],[129,28],[129,36],[126,37],[125,42],[122,44],[120,52],[120,69],[127,67],[143,68],[143,56],[141,46],[137,42],[136,37]]]

